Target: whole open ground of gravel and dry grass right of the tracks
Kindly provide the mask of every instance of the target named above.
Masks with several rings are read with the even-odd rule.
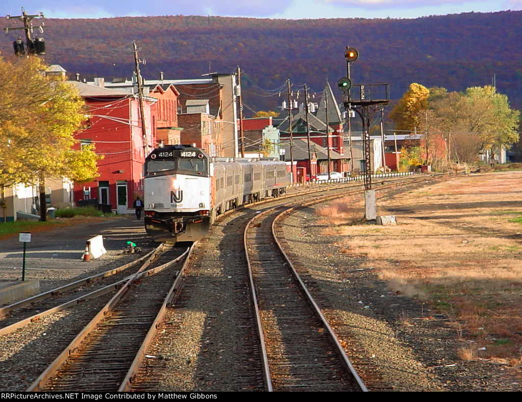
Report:
[[[522,390],[522,172],[377,197],[397,226],[367,224],[351,196],[301,212],[287,235],[385,382]]]

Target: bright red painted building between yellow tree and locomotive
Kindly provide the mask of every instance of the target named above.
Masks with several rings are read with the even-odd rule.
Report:
[[[96,153],[103,156],[93,181],[75,183],[74,201],[111,205],[118,214],[131,212],[134,198],[143,198],[145,155],[156,146],[157,117],[152,105],[157,100],[144,98],[145,143],[137,96],[125,89],[104,88],[103,81],[98,85],[70,82],[88,108],[86,128],[75,134],[80,141],[77,146],[94,144]]]

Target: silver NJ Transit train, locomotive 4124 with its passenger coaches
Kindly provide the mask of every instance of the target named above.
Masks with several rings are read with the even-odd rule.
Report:
[[[145,163],[145,229],[157,241],[196,241],[218,215],[291,184],[284,162],[215,159],[189,145],[156,148]]]

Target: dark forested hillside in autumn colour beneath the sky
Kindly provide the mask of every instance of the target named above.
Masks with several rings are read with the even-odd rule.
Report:
[[[48,64],[74,76],[130,77],[131,41],[142,48],[145,78],[194,78],[229,73],[240,65],[244,98],[254,109],[274,109],[278,97],[260,97],[290,78],[319,91],[346,75],[343,50],[359,49],[355,83],[390,82],[398,99],[411,82],[450,91],[491,84],[522,107],[522,11],[466,13],[417,19],[270,20],[164,16],[45,19]],[[36,22],[36,21],[35,21]],[[4,26],[11,21],[4,20]],[[20,26],[20,23],[18,23]],[[13,53],[16,31],[0,42]],[[250,87],[250,89],[248,89]]]

